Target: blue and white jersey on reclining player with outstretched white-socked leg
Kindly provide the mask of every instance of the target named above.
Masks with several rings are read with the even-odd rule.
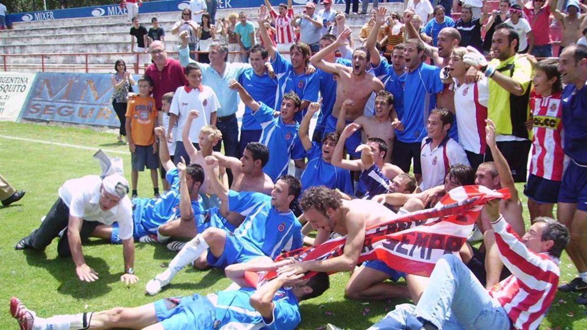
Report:
[[[292,211],[279,212],[271,196],[255,192],[228,191],[228,209],[245,216],[234,231],[236,238],[275,259],[282,251],[302,247],[302,225]]]

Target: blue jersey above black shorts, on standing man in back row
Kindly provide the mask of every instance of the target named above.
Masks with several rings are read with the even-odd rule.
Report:
[[[442,92],[440,68],[422,63],[419,68],[406,75],[404,88],[404,110],[400,117],[404,127],[396,130],[397,140],[404,143],[422,142],[428,136],[426,123],[430,110],[436,107],[436,94]]]

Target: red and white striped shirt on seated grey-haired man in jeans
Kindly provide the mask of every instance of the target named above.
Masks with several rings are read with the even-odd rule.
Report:
[[[492,223],[501,261],[511,271],[489,291],[505,309],[516,329],[538,329],[556,294],[560,261],[522,243],[503,217]]]

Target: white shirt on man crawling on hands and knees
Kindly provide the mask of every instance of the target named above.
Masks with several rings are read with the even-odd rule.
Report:
[[[118,223],[120,239],[128,240],[133,236],[133,207],[129,197],[124,196],[117,206],[102,211],[100,187],[102,187],[102,179],[99,176],[67,180],[59,188],[59,197],[69,207],[69,214],[73,217],[106,225]]]

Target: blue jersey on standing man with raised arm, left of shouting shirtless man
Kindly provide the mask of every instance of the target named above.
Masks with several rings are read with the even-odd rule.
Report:
[[[281,100],[285,93],[292,91],[295,92],[302,101],[318,102],[320,79],[319,76],[316,75],[316,72],[311,75],[306,75],[306,72],[302,72],[301,75],[296,75],[292,63],[284,58],[284,56],[281,56],[279,52],[275,52],[275,60],[271,62],[271,65],[273,65],[275,75],[277,76],[279,89],[277,105],[279,107],[281,107]],[[298,123],[301,122],[306,112],[306,110],[303,110],[296,113],[295,120]]]

